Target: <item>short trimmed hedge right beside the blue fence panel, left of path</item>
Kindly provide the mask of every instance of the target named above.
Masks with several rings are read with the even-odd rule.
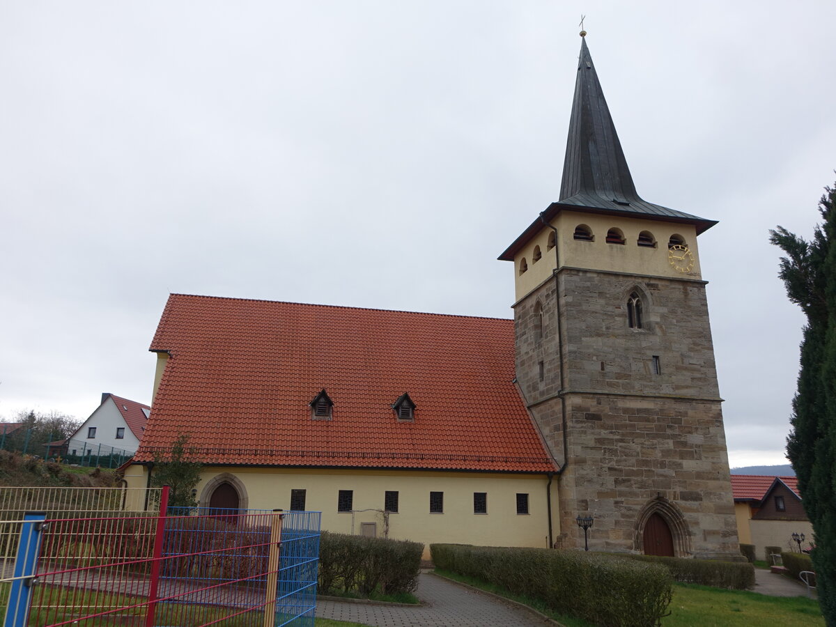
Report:
[[[324,531],[319,538],[319,592],[412,592],[424,545]]]

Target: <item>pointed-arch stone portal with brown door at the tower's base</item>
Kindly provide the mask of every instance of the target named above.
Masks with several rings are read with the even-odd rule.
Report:
[[[690,557],[691,531],[680,508],[661,495],[647,502],[636,518],[633,548],[645,555]]]

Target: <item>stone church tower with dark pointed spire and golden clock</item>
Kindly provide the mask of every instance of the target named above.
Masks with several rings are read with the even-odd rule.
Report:
[[[582,37],[585,33],[581,33]],[[556,545],[739,558],[697,236],[635,191],[582,39],[560,199],[499,257],[517,384],[561,471]]]

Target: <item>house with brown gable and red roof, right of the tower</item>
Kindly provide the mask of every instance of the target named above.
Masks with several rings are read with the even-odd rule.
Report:
[[[757,558],[766,558],[765,547],[798,551],[793,533],[803,533],[801,548],[809,548],[813,525],[804,512],[796,477],[732,475],[732,491],[737,534],[742,543],[755,545]]]

